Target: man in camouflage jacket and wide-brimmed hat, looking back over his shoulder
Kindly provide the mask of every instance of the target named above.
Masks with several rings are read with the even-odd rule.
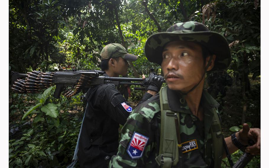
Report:
[[[148,38],[145,55],[150,62],[162,67],[168,85],[162,90],[166,89],[168,103],[161,104],[164,98],[156,94],[134,109],[121,130],[118,153],[112,156],[109,167],[220,167],[226,153],[216,117],[219,104],[203,90],[203,85],[206,72],[229,66],[231,53],[226,39],[199,22],[176,23],[166,32]],[[163,148],[160,146],[163,141],[161,108],[174,112],[180,121],[177,127],[180,137],[176,142],[180,149],[177,156],[182,159],[170,166],[165,164],[167,157],[160,152]],[[256,143],[247,147],[250,138]],[[221,141],[215,143],[219,139]],[[231,153],[240,148],[259,154],[260,129],[250,129],[244,124],[242,130],[225,138],[225,142]],[[168,146],[165,150],[175,150],[169,149],[169,144],[163,145]]]

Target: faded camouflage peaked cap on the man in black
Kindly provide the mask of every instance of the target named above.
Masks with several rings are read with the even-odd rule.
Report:
[[[127,61],[135,61],[137,60],[136,55],[127,53],[127,50],[119,43],[110,43],[106,45],[101,51],[101,61],[104,59],[122,57]]]

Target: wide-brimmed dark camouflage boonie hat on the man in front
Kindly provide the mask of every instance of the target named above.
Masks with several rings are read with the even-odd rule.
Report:
[[[162,63],[162,52],[165,45],[171,41],[190,41],[206,47],[211,54],[216,55],[213,70],[225,69],[231,62],[231,51],[223,35],[209,31],[202,23],[189,21],[176,23],[166,32],[151,35],[145,43],[145,55],[150,62]]]

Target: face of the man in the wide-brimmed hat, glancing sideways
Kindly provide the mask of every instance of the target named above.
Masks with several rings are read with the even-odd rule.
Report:
[[[163,75],[171,90],[189,91],[205,72],[202,48],[198,44],[172,41],[164,47],[162,56]]]

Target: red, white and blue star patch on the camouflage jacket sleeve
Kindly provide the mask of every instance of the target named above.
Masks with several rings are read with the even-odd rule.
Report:
[[[148,143],[149,138],[134,132],[132,139],[127,147],[127,153],[130,155],[132,159],[138,159],[143,156],[145,146]]]

